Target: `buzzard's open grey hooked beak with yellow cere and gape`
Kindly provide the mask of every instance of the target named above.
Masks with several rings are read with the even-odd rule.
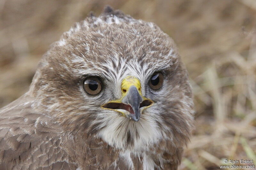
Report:
[[[140,89],[140,81],[135,77],[128,76],[122,82],[122,97],[101,107],[121,112],[123,116],[137,122],[140,120],[142,111],[153,105],[152,100],[142,96]]]

